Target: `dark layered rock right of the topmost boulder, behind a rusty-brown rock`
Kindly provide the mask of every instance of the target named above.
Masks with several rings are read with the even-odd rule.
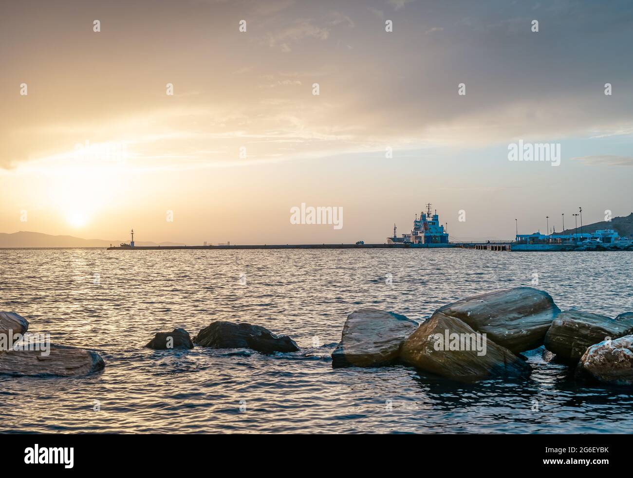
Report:
[[[633,334],[633,319],[614,320],[605,315],[566,310],[554,320],[545,336],[545,348],[556,360],[576,365],[588,347]]]

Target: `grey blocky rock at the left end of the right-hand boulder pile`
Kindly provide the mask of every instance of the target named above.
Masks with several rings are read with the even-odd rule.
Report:
[[[380,367],[398,360],[400,346],[418,328],[415,320],[372,308],[348,315],[332,367]]]

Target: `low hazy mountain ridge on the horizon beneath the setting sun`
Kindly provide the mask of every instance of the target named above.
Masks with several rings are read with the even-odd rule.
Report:
[[[112,244],[118,246],[123,241],[106,241],[104,239],[81,239],[73,236],[51,236],[41,232],[21,230],[13,234],[0,232],[0,248],[107,248]],[[141,242],[137,246],[184,246],[179,242]]]

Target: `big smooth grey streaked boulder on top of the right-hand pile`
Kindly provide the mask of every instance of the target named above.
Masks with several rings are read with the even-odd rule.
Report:
[[[543,344],[560,309],[547,292],[513,287],[461,299],[437,311],[463,320],[494,343],[519,353]]]

